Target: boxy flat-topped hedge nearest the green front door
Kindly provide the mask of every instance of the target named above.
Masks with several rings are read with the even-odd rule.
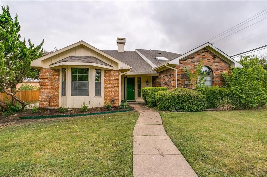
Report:
[[[156,106],[155,94],[158,91],[168,90],[166,87],[144,87],[142,88],[142,97],[145,104],[149,107]]]

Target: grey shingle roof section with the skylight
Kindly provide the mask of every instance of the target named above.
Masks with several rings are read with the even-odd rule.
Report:
[[[156,66],[166,62],[166,61],[159,61],[156,59],[156,57],[165,57],[170,61],[174,58],[181,56],[181,54],[166,52],[163,50],[145,50],[145,49],[136,49],[136,50],[142,53],[148,60],[150,60]]]

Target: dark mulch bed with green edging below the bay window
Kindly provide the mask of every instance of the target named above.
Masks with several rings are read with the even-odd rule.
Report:
[[[124,109],[118,109],[117,107],[112,107],[110,111],[119,111]],[[95,112],[107,112],[105,107],[97,107],[97,108],[88,108],[87,112],[81,112],[80,109],[74,109],[73,114],[86,114],[86,113],[95,113]],[[25,110],[22,112],[16,112],[9,115],[1,115],[0,117],[0,125],[1,127],[11,125],[11,124],[20,124],[24,122],[30,121],[38,121],[44,119],[19,119],[19,117],[28,117],[28,116],[49,116],[49,115],[70,115],[72,114],[72,110],[67,110],[66,112],[60,113],[58,109],[53,109],[49,111],[45,111],[45,108],[40,109],[39,113],[32,113],[32,110]],[[51,120],[55,118],[45,118],[46,120]],[[64,119],[64,118],[57,118]],[[66,118],[65,118],[66,119]]]

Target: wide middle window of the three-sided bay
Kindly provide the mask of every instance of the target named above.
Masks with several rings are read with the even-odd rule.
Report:
[[[72,68],[71,95],[72,96],[89,95],[88,68]]]

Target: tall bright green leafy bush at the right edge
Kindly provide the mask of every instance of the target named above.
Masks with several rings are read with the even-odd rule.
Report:
[[[257,108],[266,104],[266,71],[261,65],[254,64],[244,68],[231,68],[230,74],[222,74],[223,81],[231,92],[237,96],[242,108]],[[246,65],[245,65],[246,66]]]

